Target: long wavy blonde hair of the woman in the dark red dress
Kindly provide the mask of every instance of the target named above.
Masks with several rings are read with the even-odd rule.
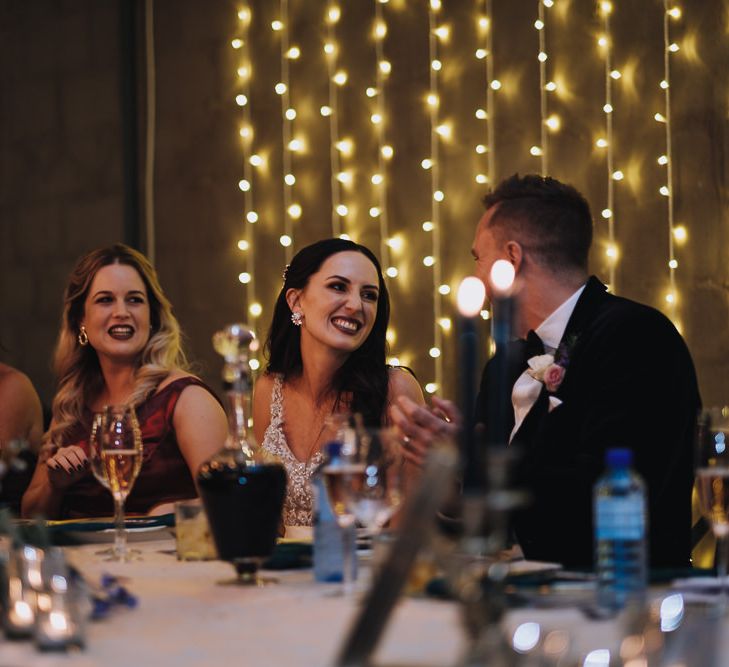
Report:
[[[103,389],[104,378],[96,351],[90,345],[81,346],[78,335],[91,283],[99,269],[110,264],[134,268],[145,284],[149,301],[151,334],[139,355],[129,403],[143,402],[170,371],[187,368],[180,325],[150,261],[122,243],[92,250],[71,271],[64,292],[61,331],[53,363],[58,391],[53,399],[51,428],[43,438],[46,443],[60,444],[63,436],[81,420],[84,408]]]

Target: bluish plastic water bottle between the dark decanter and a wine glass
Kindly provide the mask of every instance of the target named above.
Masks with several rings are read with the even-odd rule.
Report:
[[[341,462],[342,444],[330,442],[324,448],[324,462],[311,476],[314,496],[314,581],[335,583],[344,579],[344,540],[342,528],[329,502],[323,469]],[[354,540],[351,540],[353,546]],[[355,546],[356,548],[356,546]],[[356,554],[355,554],[356,555]],[[356,562],[356,558],[351,561]]]

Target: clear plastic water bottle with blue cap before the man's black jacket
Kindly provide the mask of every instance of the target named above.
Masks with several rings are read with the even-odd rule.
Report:
[[[605,462],[593,494],[597,604],[617,610],[646,591],[645,484],[631,469],[629,449],[608,450]]]

